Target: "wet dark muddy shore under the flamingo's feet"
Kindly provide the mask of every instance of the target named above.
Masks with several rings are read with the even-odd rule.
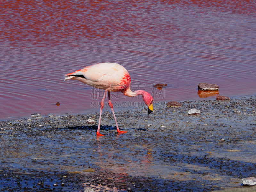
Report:
[[[125,134],[108,110],[99,138],[99,113],[2,121],[0,191],[253,191],[255,109],[255,96],[124,108]]]

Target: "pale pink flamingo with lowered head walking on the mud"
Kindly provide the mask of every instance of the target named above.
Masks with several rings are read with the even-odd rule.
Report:
[[[148,92],[143,90],[137,90],[135,92],[132,92],[130,89],[131,77],[128,71],[122,65],[119,65],[117,63],[98,63],[91,66],[87,66],[73,73],[68,73],[65,76],[65,81],[70,79],[77,80],[95,88],[105,89],[103,98],[100,102],[100,118],[96,133],[97,136],[104,136],[100,134],[100,120],[102,109],[104,107],[104,99],[107,92],[108,105],[110,106],[111,111],[113,113],[118,133],[127,133],[127,131],[121,131],[118,128],[116,116],[113,110],[113,105],[110,100],[110,91],[120,91],[128,97],[142,95],[144,103],[148,106],[148,115],[153,111],[153,97]]]

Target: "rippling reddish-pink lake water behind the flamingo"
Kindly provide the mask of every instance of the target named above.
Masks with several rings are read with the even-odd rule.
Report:
[[[91,102],[102,91],[63,79],[100,62],[123,65],[133,90],[155,102],[255,95],[255,1],[11,0],[1,1],[0,21],[3,120],[99,112]],[[220,89],[202,96],[200,82]],[[142,98],[112,100],[125,109],[121,101]]]

